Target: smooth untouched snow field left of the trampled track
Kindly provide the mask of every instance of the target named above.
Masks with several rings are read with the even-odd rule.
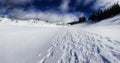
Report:
[[[36,63],[40,48],[59,29],[0,24],[0,63]]]

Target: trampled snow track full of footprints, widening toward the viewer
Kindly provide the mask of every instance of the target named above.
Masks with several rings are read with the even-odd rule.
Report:
[[[38,63],[120,63],[120,42],[90,32],[64,29]]]

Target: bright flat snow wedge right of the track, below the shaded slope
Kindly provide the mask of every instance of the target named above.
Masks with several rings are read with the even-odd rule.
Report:
[[[120,26],[90,26],[84,30],[120,41]]]

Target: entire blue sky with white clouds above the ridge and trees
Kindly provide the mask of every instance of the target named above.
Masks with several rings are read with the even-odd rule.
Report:
[[[0,16],[16,19],[73,21],[119,0],[0,0]]]

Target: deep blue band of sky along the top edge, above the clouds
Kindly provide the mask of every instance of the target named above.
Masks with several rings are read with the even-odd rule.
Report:
[[[87,4],[87,0],[66,0],[68,11],[73,12],[87,12],[86,10],[91,10],[91,6],[94,5],[96,0],[91,0]],[[6,8],[30,8],[34,7],[36,10],[46,11],[46,10],[56,10],[61,11],[60,6],[66,2],[65,0],[0,0],[0,7]],[[63,6],[64,7],[64,6]],[[65,9],[65,8],[64,8]]]

